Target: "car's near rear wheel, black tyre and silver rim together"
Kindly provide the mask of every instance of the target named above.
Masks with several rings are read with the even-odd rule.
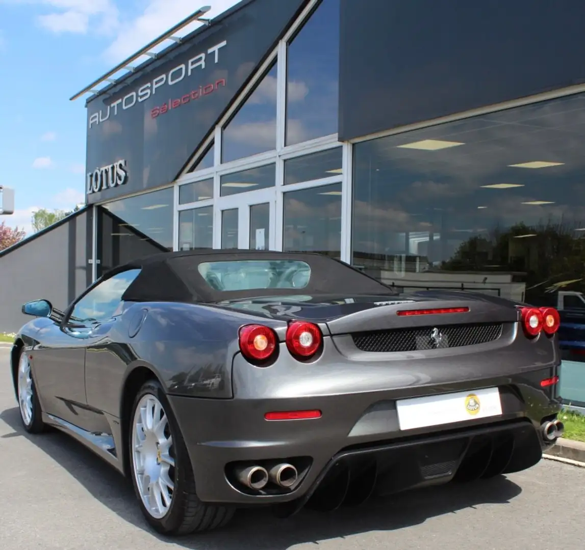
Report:
[[[228,523],[233,509],[204,504],[195,493],[187,448],[159,382],[140,388],[130,422],[132,482],[149,524],[163,534],[185,535]]]

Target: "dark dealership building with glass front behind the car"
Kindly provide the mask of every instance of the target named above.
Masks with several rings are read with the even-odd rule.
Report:
[[[0,275],[53,239],[67,277],[26,286],[63,306],[137,256],[205,248],[319,252],[400,291],[579,300],[585,5],[557,4],[243,0],[180,24],[75,96],[87,206]]]

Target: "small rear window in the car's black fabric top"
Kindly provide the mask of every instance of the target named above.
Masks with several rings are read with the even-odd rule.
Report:
[[[261,288],[304,288],[311,278],[311,267],[298,260],[235,260],[202,262],[199,273],[219,291]]]

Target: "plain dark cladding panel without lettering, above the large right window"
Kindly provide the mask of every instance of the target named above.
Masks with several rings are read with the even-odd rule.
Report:
[[[339,138],[585,82],[585,2],[342,0]]]

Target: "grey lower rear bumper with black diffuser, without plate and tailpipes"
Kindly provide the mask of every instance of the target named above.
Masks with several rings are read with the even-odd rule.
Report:
[[[550,446],[539,432],[543,419],[560,410],[558,401],[536,382],[549,373],[546,369],[525,373],[515,381],[507,377],[484,380],[477,386],[467,382],[424,388],[429,394],[433,389],[471,391],[497,386],[503,414],[408,431],[401,431],[398,425],[395,391],[281,399],[173,395],[169,399],[190,452],[202,501],[282,504],[290,511],[311,496],[318,501],[323,493],[318,488],[326,489],[329,496],[335,491],[338,497],[343,493],[341,500],[359,500],[363,495],[356,488],[389,493],[448,482],[455,476],[473,478],[531,467]],[[321,418],[264,419],[264,413],[273,410],[308,409],[321,410]],[[267,487],[256,492],[239,485],[233,476],[236,465],[264,466],[274,461],[297,467],[298,481],[290,489]],[[331,498],[328,502],[331,507]]]

